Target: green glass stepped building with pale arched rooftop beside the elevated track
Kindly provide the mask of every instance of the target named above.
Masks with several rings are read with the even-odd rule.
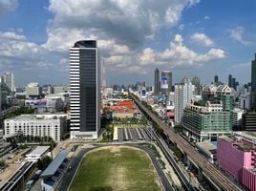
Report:
[[[204,87],[203,100],[188,104],[184,110],[181,125],[186,136],[201,142],[231,135],[231,93],[231,89],[226,85]]]

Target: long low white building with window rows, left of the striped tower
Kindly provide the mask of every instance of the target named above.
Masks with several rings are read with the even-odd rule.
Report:
[[[5,119],[4,124],[5,136],[22,132],[23,136],[51,137],[58,142],[61,135],[67,132],[67,115],[21,115]]]

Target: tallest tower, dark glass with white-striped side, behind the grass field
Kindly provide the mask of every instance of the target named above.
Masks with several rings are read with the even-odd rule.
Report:
[[[100,128],[100,61],[95,40],[70,48],[71,138],[97,138]]]

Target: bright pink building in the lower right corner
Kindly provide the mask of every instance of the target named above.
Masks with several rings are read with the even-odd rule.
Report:
[[[245,138],[218,138],[220,167],[249,190],[256,191],[256,145]]]

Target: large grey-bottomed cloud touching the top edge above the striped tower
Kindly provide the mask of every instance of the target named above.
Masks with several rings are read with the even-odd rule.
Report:
[[[86,36],[94,34],[98,39],[114,39],[117,44],[137,49],[161,27],[176,25],[181,11],[198,2],[76,0],[71,4],[70,0],[51,0],[49,11],[53,12],[54,19],[48,26],[49,38],[57,35],[54,29],[75,29]]]

